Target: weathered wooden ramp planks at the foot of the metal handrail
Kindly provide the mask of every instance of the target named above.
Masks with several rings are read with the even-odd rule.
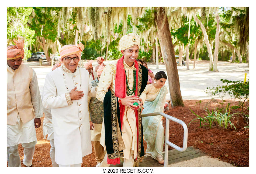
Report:
[[[169,150],[168,151],[168,165],[174,164],[181,161],[190,160],[193,158],[205,156],[206,154],[203,153],[199,149],[194,149],[193,146],[187,147],[187,149],[183,152],[178,150]],[[164,157],[164,153],[163,153]],[[117,165],[110,165],[109,167],[122,167],[123,163]],[[143,161],[139,163],[139,167],[164,167],[164,165],[159,164],[154,158],[152,157],[144,157]]]

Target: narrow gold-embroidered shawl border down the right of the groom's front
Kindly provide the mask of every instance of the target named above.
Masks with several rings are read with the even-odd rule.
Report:
[[[141,82],[142,82],[142,70],[141,67],[139,66],[139,72],[138,72],[138,96],[140,96],[140,88],[141,88]],[[143,92],[143,91],[141,91]],[[144,158],[144,156],[140,156],[141,152],[141,125],[142,125],[142,119],[141,119],[141,108],[138,109],[138,129],[139,129],[139,137],[138,137],[138,151],[137,151],[137,160],[136,162],[141,162]]]

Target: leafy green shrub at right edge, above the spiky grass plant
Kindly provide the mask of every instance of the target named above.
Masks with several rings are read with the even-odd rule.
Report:
[[[220,98],[224,98],[226,94],[229,94],[230,97],[234,97],[240,99],[239,106],[244,108],[245,101],[249,98],[249,80],[247,82],[243,81],[230,81],[226,79],[221,79],[222,83],[226,83],[225,85],[218,85],[217,87],[207,87],[205,93],[210,94],[211,96],[218,96]],[[224,102],[224,100],[223,100]]]

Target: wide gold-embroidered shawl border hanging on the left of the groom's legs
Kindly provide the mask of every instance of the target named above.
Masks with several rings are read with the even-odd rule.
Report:
[[[119,158],[123,157],[123,152],[119,152],[119,145],[118,145],[118,120],[117,120],[117,112],[116,112],[116,107],[117,107],[117,97],[111,93],[111,121],[112,121],[112,140],[113,140],[113,150],[114,153],[108,154],[109,159],[114,159],[114,158]]]

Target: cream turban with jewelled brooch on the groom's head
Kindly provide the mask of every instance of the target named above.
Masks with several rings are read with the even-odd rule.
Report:
[[[140,49],[140,35],[137,35],[135,33],[129,33],[127,35],[124,35],[120,41],[119,41],[119,50],[125,50],[127,48],[130,48],[134,45],[138,45],[138,48]]]

